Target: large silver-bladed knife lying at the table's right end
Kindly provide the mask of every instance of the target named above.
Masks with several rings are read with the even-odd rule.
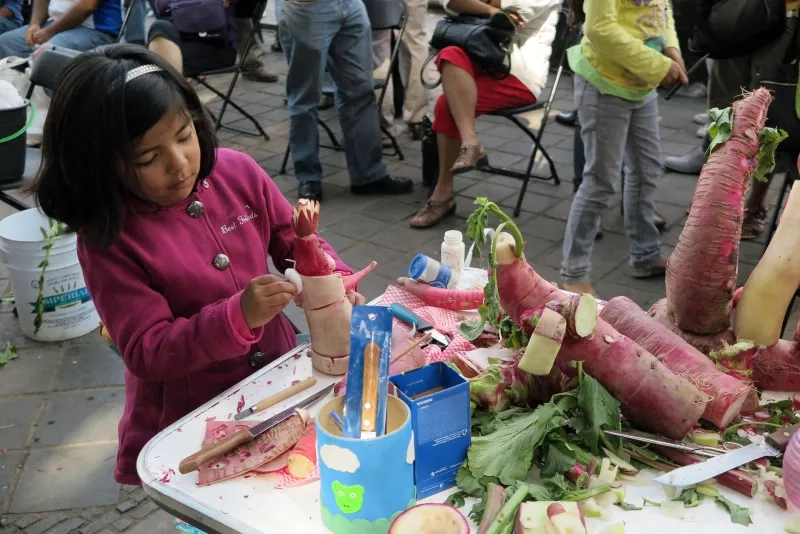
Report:
[[[714,478],[731,469],[736,469],[753,460],[765,456],[778,456],[789,444],[792,435],[800,429],[800,423],[776,430],[765,437],[763,443],[751,443],[741,449],[734,449],[704,462],[679,467],[653,480],[669,486],[691,486]]]

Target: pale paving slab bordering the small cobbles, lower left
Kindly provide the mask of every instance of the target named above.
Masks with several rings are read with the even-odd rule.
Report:
[[[9,512],[116,504],[116,458],[116,444],[33,450],[25,462]]]

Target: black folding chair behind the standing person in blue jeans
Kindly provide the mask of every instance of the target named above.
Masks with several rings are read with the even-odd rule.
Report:
[[[404,0],[371,0],[369,2],[364,2],[364,6],[367,8],[367,16],[369,17],[369,23],[372,31],[392,31],[392,53],[389,56],[389,67],[386,69],[386,76],[382,80],[377,79],[373,81],[373,87],[375,90],[380,91],[378,96],[378,110],[380,110],[383,105],[383,99],[386,96],[386,88],[389,87],[392,73],[395,71],[395,65],[397,64],[397,58],[400,52],[400,43],[403,39],[403,34],[406,31],[406,22],[408,22],[408,6]],[[396,36],[394,35],[394,31],[398,32]],[[336,139],[336,136],[330,127],[325,124],[325,121],[318,119],[317,122],[322,129],[325,130],[325,133],[328,135],[328,138],[331,141],[330,145],[320,144],[320,147],[331,150],[344,150],[344,147]],[[405,156],[403,155],[403,151],[400,149],[400,145],[397,144],[397,139],[395,139],[394,135],[392,135],[389,129],[383,124],[381,124],[381,132],[383,132],[383,134],[389,139],[388,146],[384,145],[383,147],[392,149],[392,152],[385,155],[389,157],[397,156],[397,159],[403,161]],[[283,154],[283,163],[281,163],[281,168],[280,171],[278,171],[278,174],[286,174],[286,165],[289,163],[290,150],[291,147],[287,143],[286,151]]]

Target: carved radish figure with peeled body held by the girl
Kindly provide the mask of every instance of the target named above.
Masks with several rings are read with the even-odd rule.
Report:
[[[353,311],[348,291],[355,290],[359,280],[369,274],[376,263],[349,276],[334,272],[336,264],[322,248],[317,235],[319,203],[316,201],[298,200],[292,222],[295,269],[302,287],[298,302],[305,311],[311,334],[311,363],[321,373],[343,375],[350,356]]]

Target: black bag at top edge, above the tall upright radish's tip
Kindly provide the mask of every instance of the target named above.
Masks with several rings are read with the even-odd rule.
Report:
[[[783,34],[786,0],[699,0],[697,21],[692,52],[712,59],[744,56]]]

